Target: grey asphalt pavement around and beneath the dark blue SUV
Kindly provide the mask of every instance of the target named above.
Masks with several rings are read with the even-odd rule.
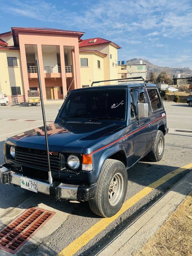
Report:
[[[128,170],[129,181],[126,199],[131,198],[141,189],[165,174],[192,162],[192,133],[175,132],[175,129],[192,131],[192,108],[188,107],[187,104],[173,102],[164,102],[164,107],[169,127],[169,134],[165,136],[164,157],[157,163],[140,162]],[[45,106],[47,121],[54,120],[59,108],[60,105],[57,104]],[[19,120],[8,121],[9,119]],[[0,107],[0,163],[4,162],[3,144],[7,137],[42,124],[41,107]],[[75,255],[94,255],[94,251],[98,246],[107,243],[110,237],[126,226],[139,212],[156,200],[158,196],[171,188],[186,172],[184,171],[176,175],[154,189],[150,194],[110,223],[107,228],[91,239]],[[57,255],[74,239],[100,220],[98,216],[91,212],[87,202],[61,201],[55,203],[51,202],[45,195],[38,194],[37,196],[12,185],[0,185],[0,190],[0,218],[2,224],[6,223],[9,219],[13,219],[14,212],[18,214],[16,212],[23,211],[22,209],[27,208],[27,205],[39,206],[41,202],[44,204],[42,208],[52,208],[56,212],[56,216],[58,216],[58,223],[53,222],[52,219],[49,220],[44,226],[44,234],[39,236],[38,242],[37,239],[33,239],[30,244],[27,242],[18,251],[17,255]]]

